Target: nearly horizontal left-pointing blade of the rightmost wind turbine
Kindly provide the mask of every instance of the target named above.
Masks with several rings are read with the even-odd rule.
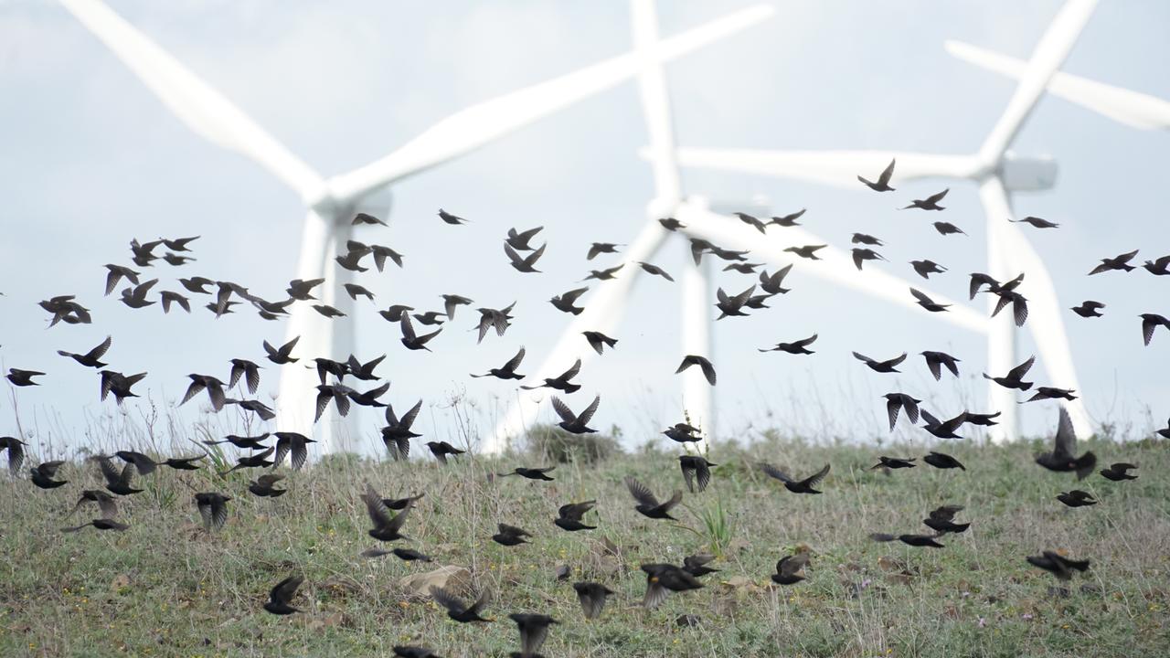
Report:
[[[979,163],[972,156],[940,156],[896,151],[765,151],[752,149],[688,149],[676,151],[686,167],[736,171],[756,176],[807,180],[865,190],[858,176],[876,178],[897,159],[893,181],[918,178],[970,178]]]

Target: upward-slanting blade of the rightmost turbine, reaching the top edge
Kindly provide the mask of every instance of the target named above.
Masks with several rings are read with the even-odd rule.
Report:
[[[1007,108],[979,148],[983,164],[993,166],[1003,157],[1032,114],[1052,75],[1065,63],[1065,57],[1073,49],[1095,7],[1096,0],[1068,0],[1057,13],[1032,52],[1032,59],[1024,69]]]

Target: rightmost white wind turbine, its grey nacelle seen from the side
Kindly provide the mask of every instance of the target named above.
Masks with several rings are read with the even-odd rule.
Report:
[[[1035,338],[1041,361],[1054,386],[1076,389],[1076,370],[1065,334],[1062,309],[1044,261],[1020,229],[1009,221],[1012,217],[1010,192],[1046,190],[1055,181],[1055,163],[1051,158],[1019,158],[1007,148],[1032,114],[1053,74],[1067,57],[1081,29],[1096,6],[1096,0],[1068,0],[1037,43],[1032,59],[1019,76],[1011,101],[991,129],[979,150],[965,156],[943,156],[889,151],[756,151],[680,149],[683,166],[720,169],[847,185],[855,187],[854,176],[879,171],[892,157],[897,158],[894,176],[899,180],[917,178],[957,178],[979,185],[979,198],[987,218],[987,263],[991,276],[1004,281],[1020,270],[1027,273],[1025,287],[1030,297],[1028,327]],[[994,300],[991,300],[991,304]],[[987,337],[990,372],[1006,372],[1016,364],[1014,327],[1005,316],[991,321]],[[1019,436],[1014,393],[990,385],[991,407],[1003,412],[993,439],[1014,440]],[[1079,437],[1092,433],[1082,399],[1067,404],[1073,427]]]

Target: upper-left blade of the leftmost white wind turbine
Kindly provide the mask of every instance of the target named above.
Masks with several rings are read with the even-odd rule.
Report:
[[[317,172],[101,0],[61,4],[197,135],[252,158],[302,198],[319,194]]]

